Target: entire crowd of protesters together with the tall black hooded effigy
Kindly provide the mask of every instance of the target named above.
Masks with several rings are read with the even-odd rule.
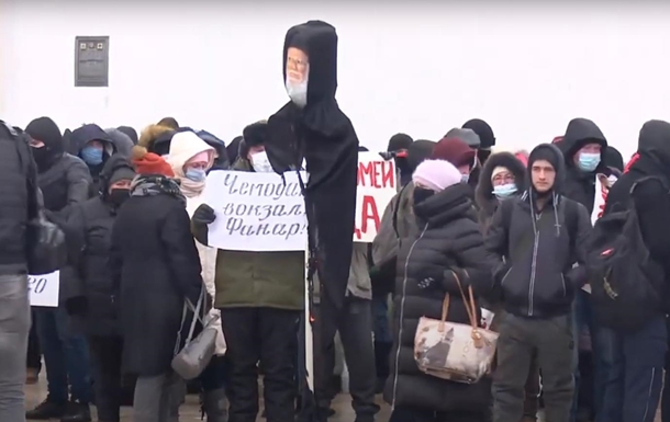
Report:
[[[209,422],[255,422],[260,379],[269,422],[324,422],[335,332],[356,422],[378,419],[377,395],[391,422],[652,422],[659,403],[670,420],[670,123],[647,122],[626,164],[587,118],[529,153],[478,118],[438,141],[394,135],[380,156],[398,193],[354,242],[366,148],[335,101],[336,45],[327,23],[292,27],[291,101],[227,145],[171,117],[139,136],[0,125],[1,422],[89,422],[92,404],[100,422],[126,404],[176,422],[188,390]],[[210,244],[221,170],[309,173],[306,269],[302,251]],[[31,309],[47,250],[58,306]],[[190,379],[175,360],[205,331]],[[42,363],[48,392],[26,411]]]

